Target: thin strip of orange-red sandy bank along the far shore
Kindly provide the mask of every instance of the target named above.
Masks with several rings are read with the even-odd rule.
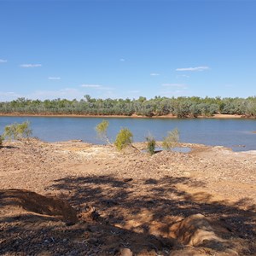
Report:
[[[15,116],[15,117],[72,117],[72,118],[120,118],[120,119],[177,119],[178,117],[172,114],[161,115],[161,116],[142,116],[137,114],[132,114],[131,116],[126,115],[90,115],[90,114],[54,114],[54,113],[42,113],[42,114],[32,114],[32,113],[0,113],[0,116]],[[224,114],[216,113],[212,116],[197,116],[197,117],[185,117],[185,119],[255,119],[254,117],[247,117],[239,114]]]

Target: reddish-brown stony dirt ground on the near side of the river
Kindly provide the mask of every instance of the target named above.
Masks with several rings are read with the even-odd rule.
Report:
[[[256,255],[256,151],[182,146],[4,143],[0,255]]]

